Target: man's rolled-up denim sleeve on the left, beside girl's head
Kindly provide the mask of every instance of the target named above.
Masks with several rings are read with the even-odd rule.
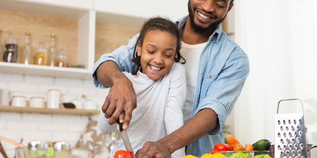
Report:
[[[93,82],[96,87],[99,88],[108,88],[103,86],[97,78],[96,71],[98,67],[105,61],[113,61],[115,62],[121,71],[131,72],[135,66],[132,63],[132,57],[134,52],[135,43],[137,41],[139,34],[133,36],[127,45],[122,45],[115,49],[111,53],[104,54],[100,57],[100,59],[93,65],[92,68],[92,77]],[[104,72],[107,73],[107,72]]]

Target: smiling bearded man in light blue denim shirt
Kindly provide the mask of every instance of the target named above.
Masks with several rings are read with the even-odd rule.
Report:
[[[169,157],[186,145],[186,154],[200,156],[215,143],[224,142],[222,128],[249,74],[248,57],[220,25],[232,7],[233,0],[189,0],[189,16],[176,22],[182,31],[181,54],[186,59],[184,120],[188,121],[166,137],[145,143],[136,157]],[[137,36],[112,54],[103,55],[93,70],[96,86],[112,87],[102,106],[104,116],[110,118],[109,124],[119,118],[123,128],[128,128],[136,97],[131,82],[120,70],[131,71]]]

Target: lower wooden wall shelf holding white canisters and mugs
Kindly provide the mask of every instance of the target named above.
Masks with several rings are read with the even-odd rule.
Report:
[[[31,107],[12,107],[0,106],[0,112],[15,112],[15,113],[40,113],[40,114],[62,114],[62,115],[96,115],[98,110],[83,110],[83,109],[49,109],[49,108],[31,108]]]

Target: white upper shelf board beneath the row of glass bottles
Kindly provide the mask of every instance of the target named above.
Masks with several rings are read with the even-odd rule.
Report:
[[[91,79],[92,72],[81,68],[60,68],[42,65],[24,65],[19,63],[0,62],[0,73],[22,75],[60,76],[69,78]]]

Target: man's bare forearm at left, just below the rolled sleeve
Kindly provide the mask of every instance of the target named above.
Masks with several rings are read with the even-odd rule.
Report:
[[[126,78],[120,71],[118,65],[113,61],[103,62],[96,71],[98,81],[107,87],[112,87],[117,79]]]

